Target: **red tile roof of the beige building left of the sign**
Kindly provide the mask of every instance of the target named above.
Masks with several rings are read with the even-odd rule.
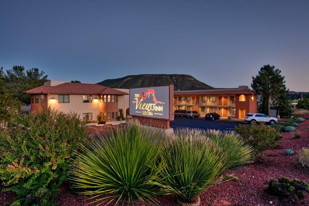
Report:
[[[39,86],[28,91],[24,91],[23,94],[88,94],[88,95],[128,95],[126,92],[115,90],[99,84],[85,84],[85,83],[63,83],[57,86]]]

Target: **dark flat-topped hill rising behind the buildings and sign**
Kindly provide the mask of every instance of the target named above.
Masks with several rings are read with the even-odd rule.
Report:
[[[97,84],[118,89],[129,89],[130,87],[155,86],[163,84],[173,84],[175,91],[215,89],[214,87],[200,82],[196,78],[187,74],[129,75],[117,79],[106,79],[103,82],[99,82]]]

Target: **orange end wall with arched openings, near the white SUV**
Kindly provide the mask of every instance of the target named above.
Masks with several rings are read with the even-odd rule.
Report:
[[[237,119],[240,118],[240,113],[239,113],[240,108],[245,109],[245,114],[257,112],[256,95],[253,95],[253,101],[252,101],[252,95],[245,95],[245,98],[246,98],[245,101],[239,101],[239,96],[240,95],[236,95],[235,97],[235,117]]]

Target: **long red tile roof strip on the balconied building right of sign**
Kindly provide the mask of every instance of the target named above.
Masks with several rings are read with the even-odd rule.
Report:
[[[176,91],[174,95],[256,95],[255,91],[252,90],[201,90],[201,91]]]

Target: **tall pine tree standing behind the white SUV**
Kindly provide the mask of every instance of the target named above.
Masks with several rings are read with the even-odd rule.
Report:
[[[252,77],[252,88],[257,94],[262,95],[267,101],[267,115],[270,116],[271,98],[279,95],[286,95],[286,86],[284,76],[281,76],[281,70],[275,69],[275,66],[264,65],[256,77]],[[265,107],[265,105],[263,105]]]

